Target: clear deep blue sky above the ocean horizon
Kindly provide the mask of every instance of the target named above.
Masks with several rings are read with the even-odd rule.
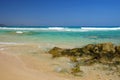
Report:
[[[120,0],[0,0],[0,23],[120,26]]]

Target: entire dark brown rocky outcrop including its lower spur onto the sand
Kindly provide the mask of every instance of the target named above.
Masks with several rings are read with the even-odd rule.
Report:
[[[82,48],[62,49],[54,47],[49,51],[53,58],[66,56],[74,64],[71,68],[73,75],[81,75],[81,65],[94,63],[106,64],[110,67],[120,65],[120,46],[112,43],[88,44]]]

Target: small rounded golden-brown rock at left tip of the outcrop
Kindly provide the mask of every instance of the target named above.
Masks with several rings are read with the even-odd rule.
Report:
[[[53,57],[60,57],[62,56],[61,52],[63,51],[62,48],[54,47],[48,53],[52,54]]]

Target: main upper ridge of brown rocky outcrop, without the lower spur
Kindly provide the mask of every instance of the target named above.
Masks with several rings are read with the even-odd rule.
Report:
[[[49,51],[53,57],[71,56],[71,57],[89,57],[86,61],[97,60],[101,63],[111,62],[115,57],[120,56],[120,46],[112,43],[88,44],[82,48],[62,49],[54,47]],[[89,60],[88,60],[89,59]]]

